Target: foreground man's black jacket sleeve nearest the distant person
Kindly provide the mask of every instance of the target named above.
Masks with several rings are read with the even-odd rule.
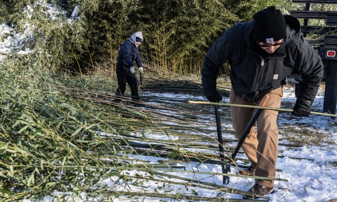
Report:
[[[220,67],[229,59],[229,40],[227,33],[223,34],[204,57],[201,68],[201,82],[204,96],[212,96],[217,91],[217,78]]]

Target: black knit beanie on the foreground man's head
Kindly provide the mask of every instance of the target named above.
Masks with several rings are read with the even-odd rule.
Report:
[[[255,21],[253,33],[256,41],[273,43],[286,36],[284,17],[275,6],[255,13],[253,18]]]

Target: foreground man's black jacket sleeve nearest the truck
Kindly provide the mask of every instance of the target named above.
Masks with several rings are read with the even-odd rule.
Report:
[[[303,46],[300,47],[296,62],[303,81],[300,84],[296,104],[311,110],[312,103],[323,79],[323,62],[319,54],[306,40],[303,42]]]

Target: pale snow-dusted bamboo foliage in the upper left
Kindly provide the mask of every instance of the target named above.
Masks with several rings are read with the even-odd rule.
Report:
[[[47,11],[48,1],[12,0],[7,1],[11,12],[7,23],[15,25],[15,32],[22,39],[18,49],[9,54],[24,63],[40,63],[45,69],[59,71],[66,67],[71,71],[83,73],[81,65],[85,57],[89,40],[86,38],[84,21],[67,20],[66,13],[55,5],[52,14]],[[7,6],[7,7],[8,7]],[[27,55],[16,54],[18,50],[31,50]]]

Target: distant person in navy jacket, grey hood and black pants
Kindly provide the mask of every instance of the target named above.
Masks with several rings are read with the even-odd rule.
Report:
[[[121,97],[124,96],[126,89],[126,83],[131,89],[131,99],[133,101],[140,101],[137,79],[134,74],[134,62],[136,62],[138,70],[143,72],[142,60],[138,51],[138,46],[142,43],[142,32],[136,32],[120,46],[116,64],[118,88],[115,95],[118,98],[115,101],[121,101]]]

